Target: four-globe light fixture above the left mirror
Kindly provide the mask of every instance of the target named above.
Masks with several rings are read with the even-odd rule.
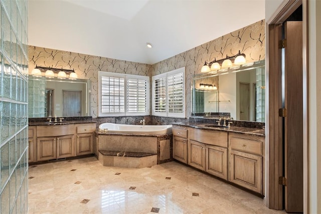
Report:
[[[42,76],[42,72],[45,73],[45,77],[47,78],[53,78],[55,77],[55,74],[57,74],[57,77],[59,79],[66,79],[67,75],[69,75],[69,79],[75,80],[78,79],[78,76],[75,72],[75,70],[69,70],[69,69],[59,69],[59,68],[48,68],[48,67],[41,67],[37,66],[34,68],[31,72],[31,75],[33,76]]]

